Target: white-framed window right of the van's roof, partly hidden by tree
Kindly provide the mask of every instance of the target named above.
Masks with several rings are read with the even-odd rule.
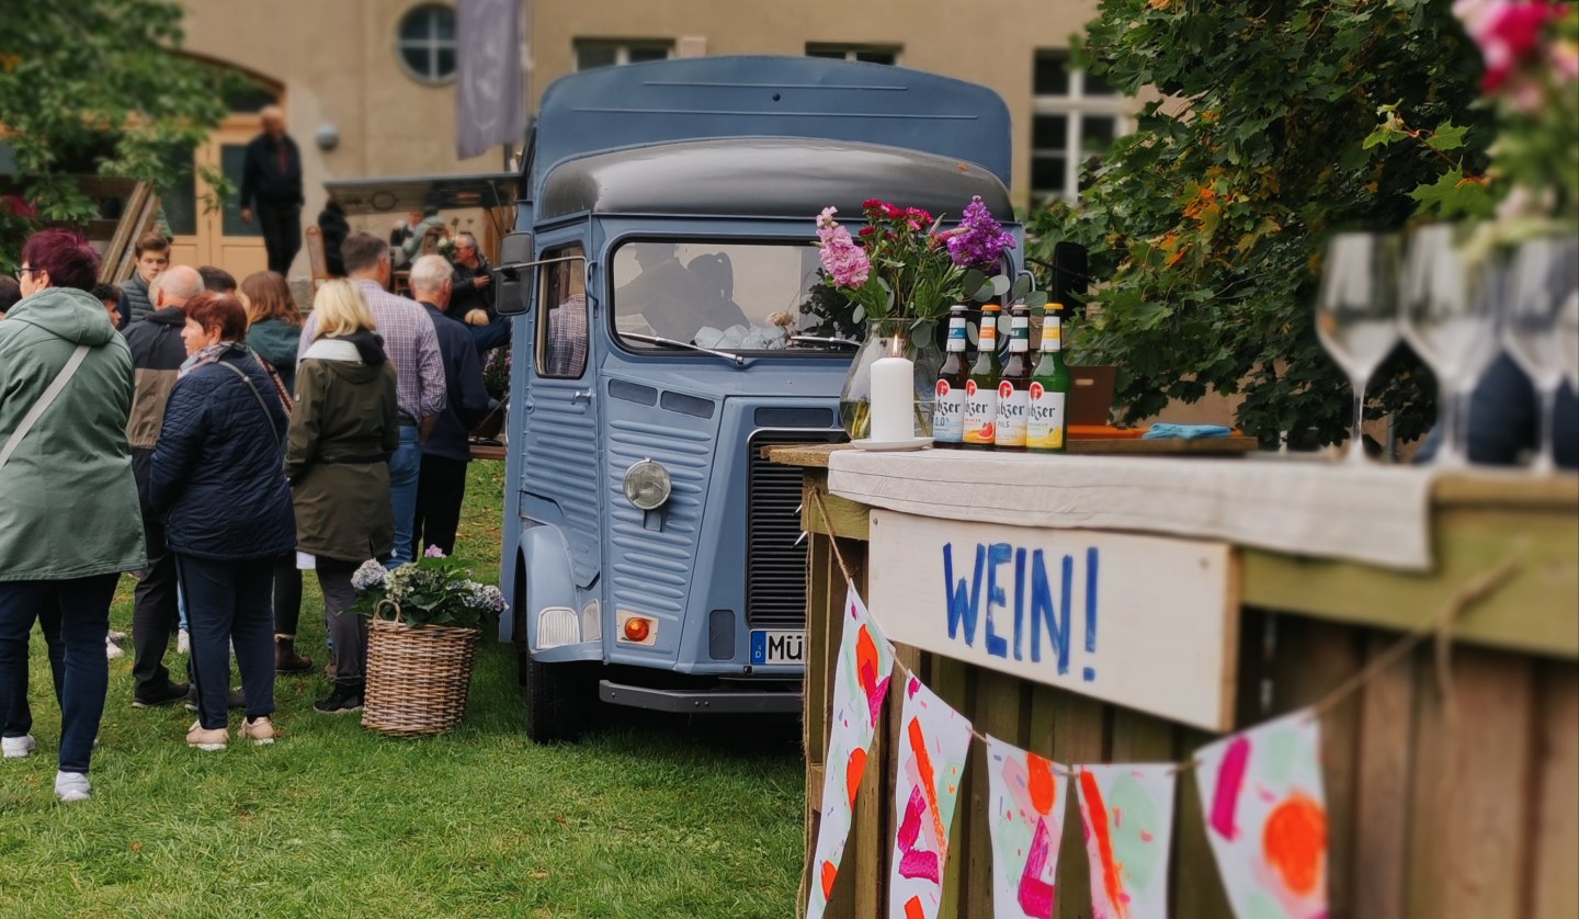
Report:
[[[1031,194],[1075,197],[1080,167],[1129,131],[1129,106],[1107,82],[1069,65],[1069,52],[1036,54]]]

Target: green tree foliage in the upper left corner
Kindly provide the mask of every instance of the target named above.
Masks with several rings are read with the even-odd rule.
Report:
[[[182,6],[166,0],[6,3],[0,141],[16,159],[0,199],[0,267],[38,221],[85,223],[77,185],[98,175],[167,180],[226,117],[234,76],[177,52]],[[5,177],[0,177],[5,180]]]

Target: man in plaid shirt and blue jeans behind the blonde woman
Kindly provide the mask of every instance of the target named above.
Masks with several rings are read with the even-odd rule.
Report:
[[[395,554],[387,562],[395,567],[412,561],[411,534],[417,518],[417,478],[422,472],[422,442],[444,412],[447,384],[439,336],[433,319],[415,300],[387,291],[390,281],[388,243],[358,232],[339,246],[346,259],[346,275],[357,284],[384,336],[384,352],[395,365],[395,396],[399,404],[399,448],[390,458],[390,504],[395,507]],[[317,336],[317,317],[308,314],[302,324],[297,362]]]

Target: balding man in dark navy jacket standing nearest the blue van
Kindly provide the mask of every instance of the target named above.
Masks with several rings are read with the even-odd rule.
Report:
[[[425,545],[439,546],[447,556],[455,554],[455,531],[466,497],[466,463],[471,460],[467,433],[488,415],[488,388],[477,363],[477,346],[466,327],[447,314],[452,291],[450,264],[442,256],[417,259],[411,268],[411,292],[428,311],[433,332],[439,336],[448,406],[422,445],[412,556]]]

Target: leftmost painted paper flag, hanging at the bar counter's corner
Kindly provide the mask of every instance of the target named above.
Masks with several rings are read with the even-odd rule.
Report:
[[[827,760],[823,763],[823,820],[816,829],[807,919],[821,919],[834,892],[834,878],[850,838],[856,791],[867,769],[872,736],[894,670],[894,647],[878,632],[854,584],[850,584],[845,598],[843,621],[834,666],[834,709],[829,714]]]

